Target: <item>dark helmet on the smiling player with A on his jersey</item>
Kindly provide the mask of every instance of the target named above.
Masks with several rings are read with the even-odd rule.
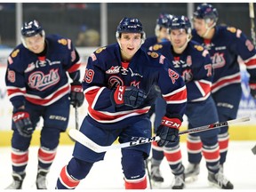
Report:
[[[188,19],[188,17],[181,15],[181,16],[174,16],[172,18],[172,22],[170,22],[168,31],[169,34],[174,29],[185,29],[187,34],[191,34],[191,23]]]

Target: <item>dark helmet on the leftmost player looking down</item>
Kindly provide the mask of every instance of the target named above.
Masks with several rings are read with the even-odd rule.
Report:
[[[42,36],[43,33],[44,29],[37,20],[25,22],[21,28],[21,35],[23,37],[36,36],[37,34]]]

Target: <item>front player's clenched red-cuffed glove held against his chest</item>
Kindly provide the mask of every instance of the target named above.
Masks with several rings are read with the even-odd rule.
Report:
[[[134,86],[117,86],[116,90],[112,92],[112,99],[116,107],[125,105],[138,108],[146,98],[146,93]]]

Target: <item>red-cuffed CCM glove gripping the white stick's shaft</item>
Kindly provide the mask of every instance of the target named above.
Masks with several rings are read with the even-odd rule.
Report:
[[[156,135],[161,138],[157,142],[159,147],[168,145],[169,143],[178,142],[180,140],[179,128],[181,121],[179,118],[163,117],[161,124],[156,129]]]

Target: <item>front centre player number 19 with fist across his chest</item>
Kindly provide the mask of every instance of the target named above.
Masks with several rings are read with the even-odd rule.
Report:
[[[89,106],[80,132],[99,145],[109,146],[117,138],[123,143],[151,136],[147,113],[156,99],[151,97],[153,84],[158,84],[168,103],[158,128],[158,145],[179,139],[187,104],[185,83],[163,55],[140,48],[144,39],[140,20],[124,18],[116,30],[117,44],[101,47],[88,59],[83,88]],[[126,189],[147,188],[144,160],[150,146],[148,143],[121,149]],[[62,168],[56,188],[76,188],[104,156],[105,152],[95,153],[76,142],[73,157]]]

